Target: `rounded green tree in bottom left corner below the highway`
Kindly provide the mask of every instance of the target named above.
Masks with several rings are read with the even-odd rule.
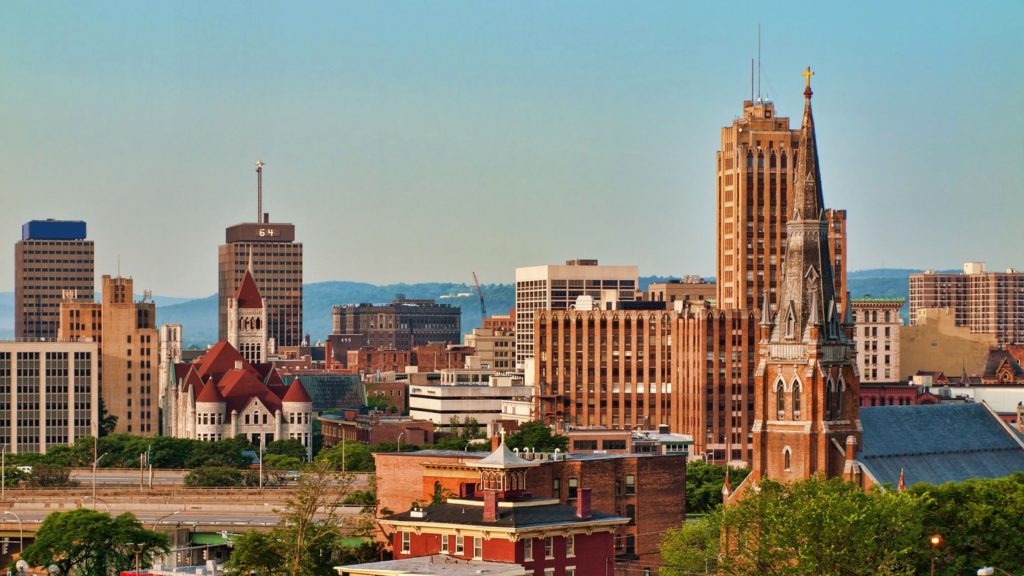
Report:
[[[47,516],[23,556],[33,566],[54,564],[61,574],[108,576],[134,569],[135,546],[141,568],[169,549],[167,536],[146,530],[130,512],[112,518],[79,508]]]

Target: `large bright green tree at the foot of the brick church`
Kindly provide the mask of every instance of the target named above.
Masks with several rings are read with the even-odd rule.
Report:
[[[662,574],[910,575],[925,541],[921,510],[918,496],[865,493],[842,479],[764,481],[740,502],[669,531]]]

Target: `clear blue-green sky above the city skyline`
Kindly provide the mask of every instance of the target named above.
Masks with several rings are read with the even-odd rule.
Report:
[[[715,273],[715,152],[810,66],[849,268],[1024,266],[1024,2],[36,2],[0,18],[0,291],[36,218],[96,274],[216,291],[224,229],[293,222],[306,282]]]

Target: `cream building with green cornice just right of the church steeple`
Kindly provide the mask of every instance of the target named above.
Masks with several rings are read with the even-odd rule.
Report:
[[[854,298],[857,367],[861,382],[894,382],[900,379],[899,316],[903,298]]]

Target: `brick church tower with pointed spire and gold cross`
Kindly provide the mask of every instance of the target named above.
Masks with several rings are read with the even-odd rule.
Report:
[[[842,476],[846,453],[860,442],[859,379],[853,326],[841,313],[828,217],[822,207],[811,72],[804,73],[804,120],[785,265],[778,305],[768,291],[761,304],[755,374],[753,477],[802,480]],[[850,444],[850,446],[848,446]]]

